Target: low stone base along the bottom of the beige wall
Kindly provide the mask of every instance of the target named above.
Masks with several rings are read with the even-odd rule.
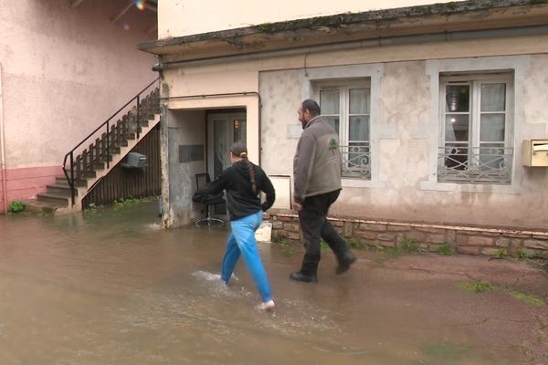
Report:
[[[263,219],[272,223],[273,239],[281,235],[301,241],[297,214],[270,213]],[[332,217],[328,220],[347,241],[365,246],[396,248],[412,242],[430,252],[450,245],[453,252],[465,255],[548,255],[548,232]]]

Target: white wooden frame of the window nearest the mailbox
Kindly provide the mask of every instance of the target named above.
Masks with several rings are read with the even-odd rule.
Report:
[[[446,147],[446,114],[448,113],[447,102],[446,102],[446,89],[451,85],[469,85],[470,89],[470,99],[469,99],[469,168],[478,167],[477,163],[474,162],[472,157],[472,151],[475,148],[480,147],[480,128],[481,128],[481,115],[489,112],[481,112],[481,86],[489,84],[504,84],[505,85],[505,110],[504,110],[504,143],[505,149],[512,148],[513,141],[513,130],[512,125],[513,121],[511,120],[512,116],[512,100],[513,100],[513,75],[511,72],[497,72],[497,73],[466,73],[462,75],[440,75],[439,82],[439,148]],[[449,112],[450,114],[458,114],[456,112]],[[493,112],[500,113],[500,112]],[[450,142],[449,142],[450,143]],[[463,143],[463,141],[456,141],[455,144]],[[441,162],[440,162],[441,163]],[[512,163],[513,164],[513,163]],[[510,171],[513,170],[513,166],[510,166]],[[471,174],[470,174],[471,175]],[[438,176],[439,179],[439,176]],[[439,180],[438,180],[439,181]],[[469,180],[461,181],[443,181],[442,183],[482,183],[474,181],[473,177],[470,177]],[[491,182],[489,184],[509,184],[509,182],[495,183]]]

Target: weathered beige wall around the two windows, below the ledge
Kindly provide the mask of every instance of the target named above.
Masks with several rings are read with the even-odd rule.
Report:
[[[372,180],[345,180],[334,214],[374,219],[548,226],[548,169],[522,167],[522,140],[546,138],[543,75],[548,36],[470,39],[364,47],[291,57],[269,57],[174,68],[164,72],[170,95],[204,90],[252,90],[261,96],[261,161],[269,174],[292,175],[297,106],[314,97],[315,80],[371,79]],[[306,57],[307,68],[303,68]],[[390,62],[383,62],[390,61]],[[511,185],[439,184],[436,161],[438,72],[514,69],[514,172]],[[227,101],[227,99],[224,99]],[[234,103],[234,100],[233,100]],[[208,108],[213,99],[174,101],[172,108]]]

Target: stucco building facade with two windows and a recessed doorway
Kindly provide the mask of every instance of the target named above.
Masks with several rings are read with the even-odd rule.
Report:
[[[429,226],[443,231],[437,244],[484,227],[548,248],[548,168],[524,165],[548,146],[548,2],[233,8],[211,29],[175,25],[216,18],[211,6],[177,4],[159,2],[159,39],[140,45],[160,57],[166,226],[195,219],[195,173],[226,167],[237,139],[276,183],[273,214],[290,216],[296,110],[310,98],[342,140],[334,217],[381,224],[379,232],[391,223]],[[532,140],[534,151],[524,151]],[[204,155],[181,160],[191,145]]]

